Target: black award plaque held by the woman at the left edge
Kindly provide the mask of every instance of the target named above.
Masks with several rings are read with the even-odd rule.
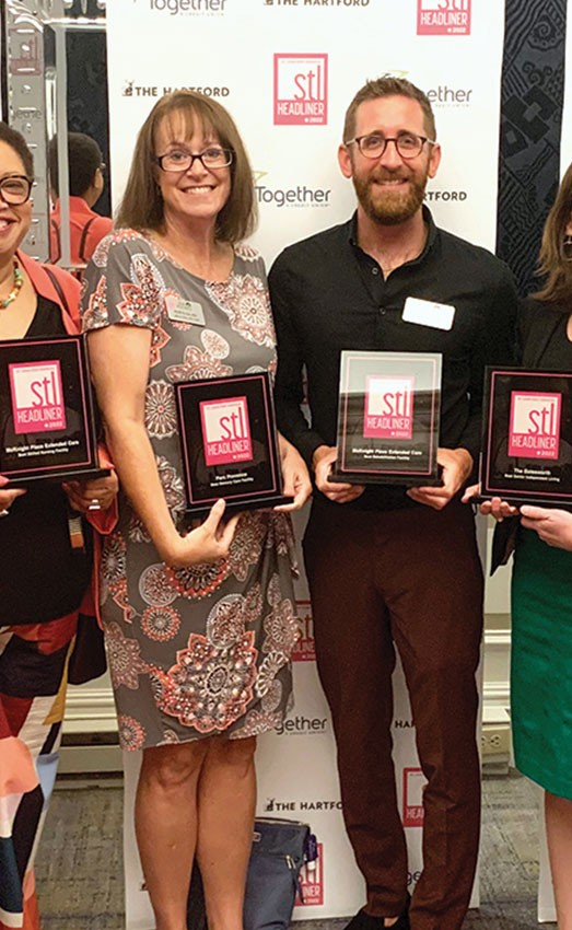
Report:
[[[82,336],[0,342],[0,474],[12,485],[106,474]]]

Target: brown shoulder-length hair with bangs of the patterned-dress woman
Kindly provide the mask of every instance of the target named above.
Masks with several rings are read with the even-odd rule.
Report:
[[[253,172],[246,149],[230,113],[218,101],[195,91],[175,91],[156,102],[143,123],[137,138],[125,194],[117,213],[119,229],[131,228],[140,232],[163,231],[164,209],[156,183],[157,165],[155,139],[159,126],[166,120],[183,119],[186,138],[190,139],[198,126],[212,132],[222,148],[230,149],[231,193],[217,219],[217,239],[237,243],[254,232],[257,207]]]

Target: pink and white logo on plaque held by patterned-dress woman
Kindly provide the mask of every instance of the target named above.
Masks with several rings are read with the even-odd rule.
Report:
[[[200,419],[207,465],[252,461],[253,441],[246,397],[201,400]]]

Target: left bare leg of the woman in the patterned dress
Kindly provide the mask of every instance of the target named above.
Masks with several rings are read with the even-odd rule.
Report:
[[[208,740],[143,751],[136,834],[156,930],[186,930],[197,842],[197,788]]]

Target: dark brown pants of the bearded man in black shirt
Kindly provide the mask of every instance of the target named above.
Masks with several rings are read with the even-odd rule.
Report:
[[[407,850],[392,759],[392,672],[404,666],[424,791],[412,930],[458,930],[480,826],[482,571],[470,509],[390,512],[315,503],[304,538],[318,672],[338,747],[343,816],[369,914],[398,915]]]

